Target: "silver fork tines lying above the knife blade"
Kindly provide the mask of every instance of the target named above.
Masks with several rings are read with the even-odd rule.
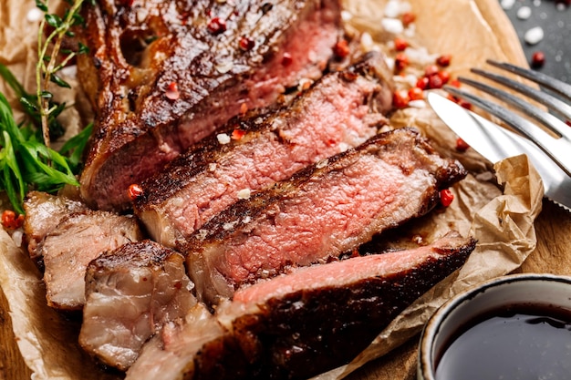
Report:
[[[571,122],[571,105],[568,104],[571,102],[571,85],[555,79],[554,77],[549,77],[543,73],[523,67],[517,67],[493,60],[487,60],[486,62],[494,67],[499,67],[518,76],[525,77],[539,84],[541,87],[557,94],[559,98],[555,98],[548,92],[537,90],[513,79],[503,77],[489,71],[478,68],[472,68],[471,70],[474,74],[491,79],[505,87],[512,88],[514,91],[517,91],[528,98],[534,99],[538,103],[545,105],[551,113],[535,107],[525,98],[516,97],[502,89],[486,85],[467,77],[459,77],[458,79],[462,83],[476,87],[490,95],[493,95],[495,98],[501,99],[514,108],[523,111],[525,114],[553,131],[555,135],[557,135],[557,138],[550,136],[545,132],[545,130],[539,128],[528,118],[524,118],[500,104],[494,103],[488,99],[477,97],[458,87],[445,86],[444,88],[452,95],[464,98],[478,108],[482,108],[493,116],[504,120],[508,126],[522,133],[527,139],[532,140],[535,145],[545,151],[545,154],[553,159],[555,163],[557,163],[557,165],[571,177],[571,126],[566,125],[566,123],[561,119],[563,118],[567,122]],[[560,98],[566,99],[566,102]],[[559,118],[555,117],[554,114]]]

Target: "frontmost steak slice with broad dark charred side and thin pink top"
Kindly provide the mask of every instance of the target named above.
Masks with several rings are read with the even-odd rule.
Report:
[[[177,326],[143,349],[127,379],[306,379],[347,364],[410,303],[457,270],[475,241],[330,262],[240,290],[202,330]],[[202,325],[205,323],[202,322]],[[218,328],[219,329],[219,328]],[[202,343],[189,345],[185,342]],[[145,352],[147,351],[147,352]]]

